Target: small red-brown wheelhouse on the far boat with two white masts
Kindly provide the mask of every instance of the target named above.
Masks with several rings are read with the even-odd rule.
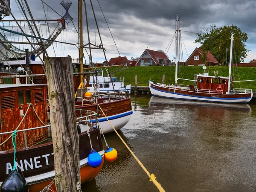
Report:
[[[198,91],[199,90],[216,90],[218,93],[225,94],[228,87],[227,77],[204,76],[198,75]]]

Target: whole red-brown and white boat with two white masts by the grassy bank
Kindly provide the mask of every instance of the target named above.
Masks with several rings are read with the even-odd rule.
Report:
[[[179,19],[177,19],[179,22]],[[176,30],[176,44],[179,41],[179,23],[177,23]],[[177,46],[176,45],[176,46]],[[231,36],[230,43],[230,65],[229,76],[209,76],[208,73],[198,74],[197,87],[191,84],[188,87],[177,85],[177,67],[178,61],[175,64],[175,85],[166,85],[149,81],[149,88],[153,96],[171,98],[171,99],[185,99],[205,102],[225,102],[225,103],[246,103],[249,102],[253,93],[251,89],[231,89],[231,58],[233,50],[233,35]],[[176,49],[176,58],[178,58],[178,47]],[[204,71],[206,66],[203,66]],[[189,80],[189,79],[183,79]]]

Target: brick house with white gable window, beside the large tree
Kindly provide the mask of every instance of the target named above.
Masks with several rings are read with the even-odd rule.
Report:
[[[196,47],[189,58],[186,60],[185,65],[204,65],[204,52],[201,48]],[[207,65],[219,65],[220,63],[215,59],[210,51],[207,51]]]

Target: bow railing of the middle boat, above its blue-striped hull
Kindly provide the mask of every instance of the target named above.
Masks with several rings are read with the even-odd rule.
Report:
[[[95,104],[96,97],[98,98],[103,98],[103,99],[108,99],[109,102],[113,100],[113,95],[116,96],[116,100],[121,100],[124,98],[127,98],[127,92],[125,91],[115,91],[115,92],[109,92],[109,93],[101,93],[99,95],[92,95],[92,96],[83,96],[83,97],[76,97],[80,102],[82,102],[81,105],[76,105],[76,106],[86,106],[86,105],[91,105]],[[90,104],[88,104],[90,102]]]

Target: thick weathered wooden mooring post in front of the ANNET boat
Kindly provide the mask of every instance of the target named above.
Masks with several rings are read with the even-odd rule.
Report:
[[[81,188],[72,58],[45,59],[57,192]]]

